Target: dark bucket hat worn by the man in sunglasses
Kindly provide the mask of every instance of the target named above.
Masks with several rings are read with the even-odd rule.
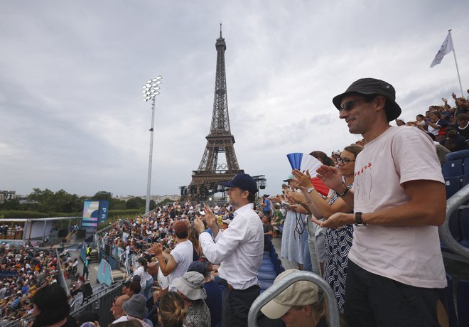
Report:
[[[345,95],[349,95],[350,93],[384,96],[387,100],[384,106],[384,111],[386,112],[388,122],[399,117],[402,112],[401,107],[396,103],[396,90],[394,90],[394,87],[391,84],[384,82],[384,80],[367,77],[360,78],[360,80],[352,82],[352,85],[350,85],[345,92],[340,95],[336,95],[333,98],[333,104],[337,109],[340,110],[340,102],[342,102]]]

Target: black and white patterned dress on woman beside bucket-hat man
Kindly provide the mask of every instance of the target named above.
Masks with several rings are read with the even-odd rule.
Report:
[[[352,188],[352,183],[347,185]],[[332,205],[338,199],[337,193],[329,200]],[[333,289],[340,313],[344,312],[345,279],[347,278],[348,252],[352,246],[353,225],[344,225],[325,231],[324,279]]]

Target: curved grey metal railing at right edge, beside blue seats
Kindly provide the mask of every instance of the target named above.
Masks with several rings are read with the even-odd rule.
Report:
[[[449,229],[449,220],[451,213],[458,210],[460,205],[464,205],[469,200],[469,184],[461,188],[456,192],[451,198],[446,200],[446,219],[443,225],[438,227],[438,233],[440,235],[440,240],[445,243],[449,250],[453,251],[455,254],[459,254],[465,259],[469,259],[469,249],[460,245],[451,235]]]

